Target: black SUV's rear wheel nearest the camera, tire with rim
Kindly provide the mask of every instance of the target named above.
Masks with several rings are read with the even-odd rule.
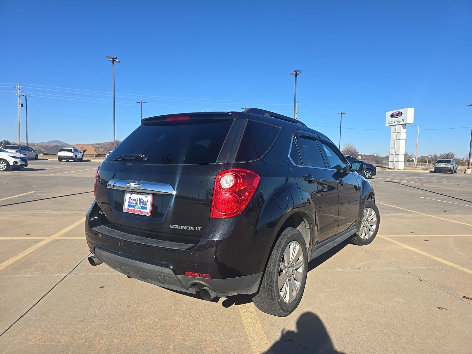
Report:
[[[286,257],[290,258],[289,261],[285,260]],[[294,263],[295,266],[287,269],[287,264]],[[287,273],[289,269],[292,270],[290,277],[282,267],[285,267]],[[302,299],[307,272],[308,252],[303,235],[295,228],[286,228],[270,253],[259,291],[253,295],[254,305],[270,315],[288,316],[295,311]],[[285,300],[282,296],[285,296]]]

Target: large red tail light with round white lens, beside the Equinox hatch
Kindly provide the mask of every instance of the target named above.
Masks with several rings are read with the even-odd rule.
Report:
[[[215,179],[212,218],[232,218],[249,204],[261,177],[247,169],[227,169]]]

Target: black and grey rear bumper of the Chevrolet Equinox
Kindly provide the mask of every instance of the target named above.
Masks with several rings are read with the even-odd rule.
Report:
[[[273,241],[272,229],[255,233],[244,217],[236,217],[219,219],[220,228],[209,224],[208,236],[202,236],[198,244],[150,238],[144,242],[142,237],[101,225],[98,211],[98,204],[93,202],[85,222],[85,237],[90,251],[111,268],[187,293],[202,287],[219,296],[257,292]],[[187,271],[211,278],[188,277]]]

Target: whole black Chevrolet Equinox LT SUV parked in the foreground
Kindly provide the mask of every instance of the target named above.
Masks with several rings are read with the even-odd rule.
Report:
[[[89,261],[205,300],[249,294],[287,316],[308,261],[377,234],[364,167],[265,110],[145,118],[97,169]]]

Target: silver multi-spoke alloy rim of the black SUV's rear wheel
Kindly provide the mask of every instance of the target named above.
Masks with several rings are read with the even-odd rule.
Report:
[[[285,248],[280,261],[278,290],[284,303],[295,300],[303,282],[303,250],[296,241],[290,242]]]

